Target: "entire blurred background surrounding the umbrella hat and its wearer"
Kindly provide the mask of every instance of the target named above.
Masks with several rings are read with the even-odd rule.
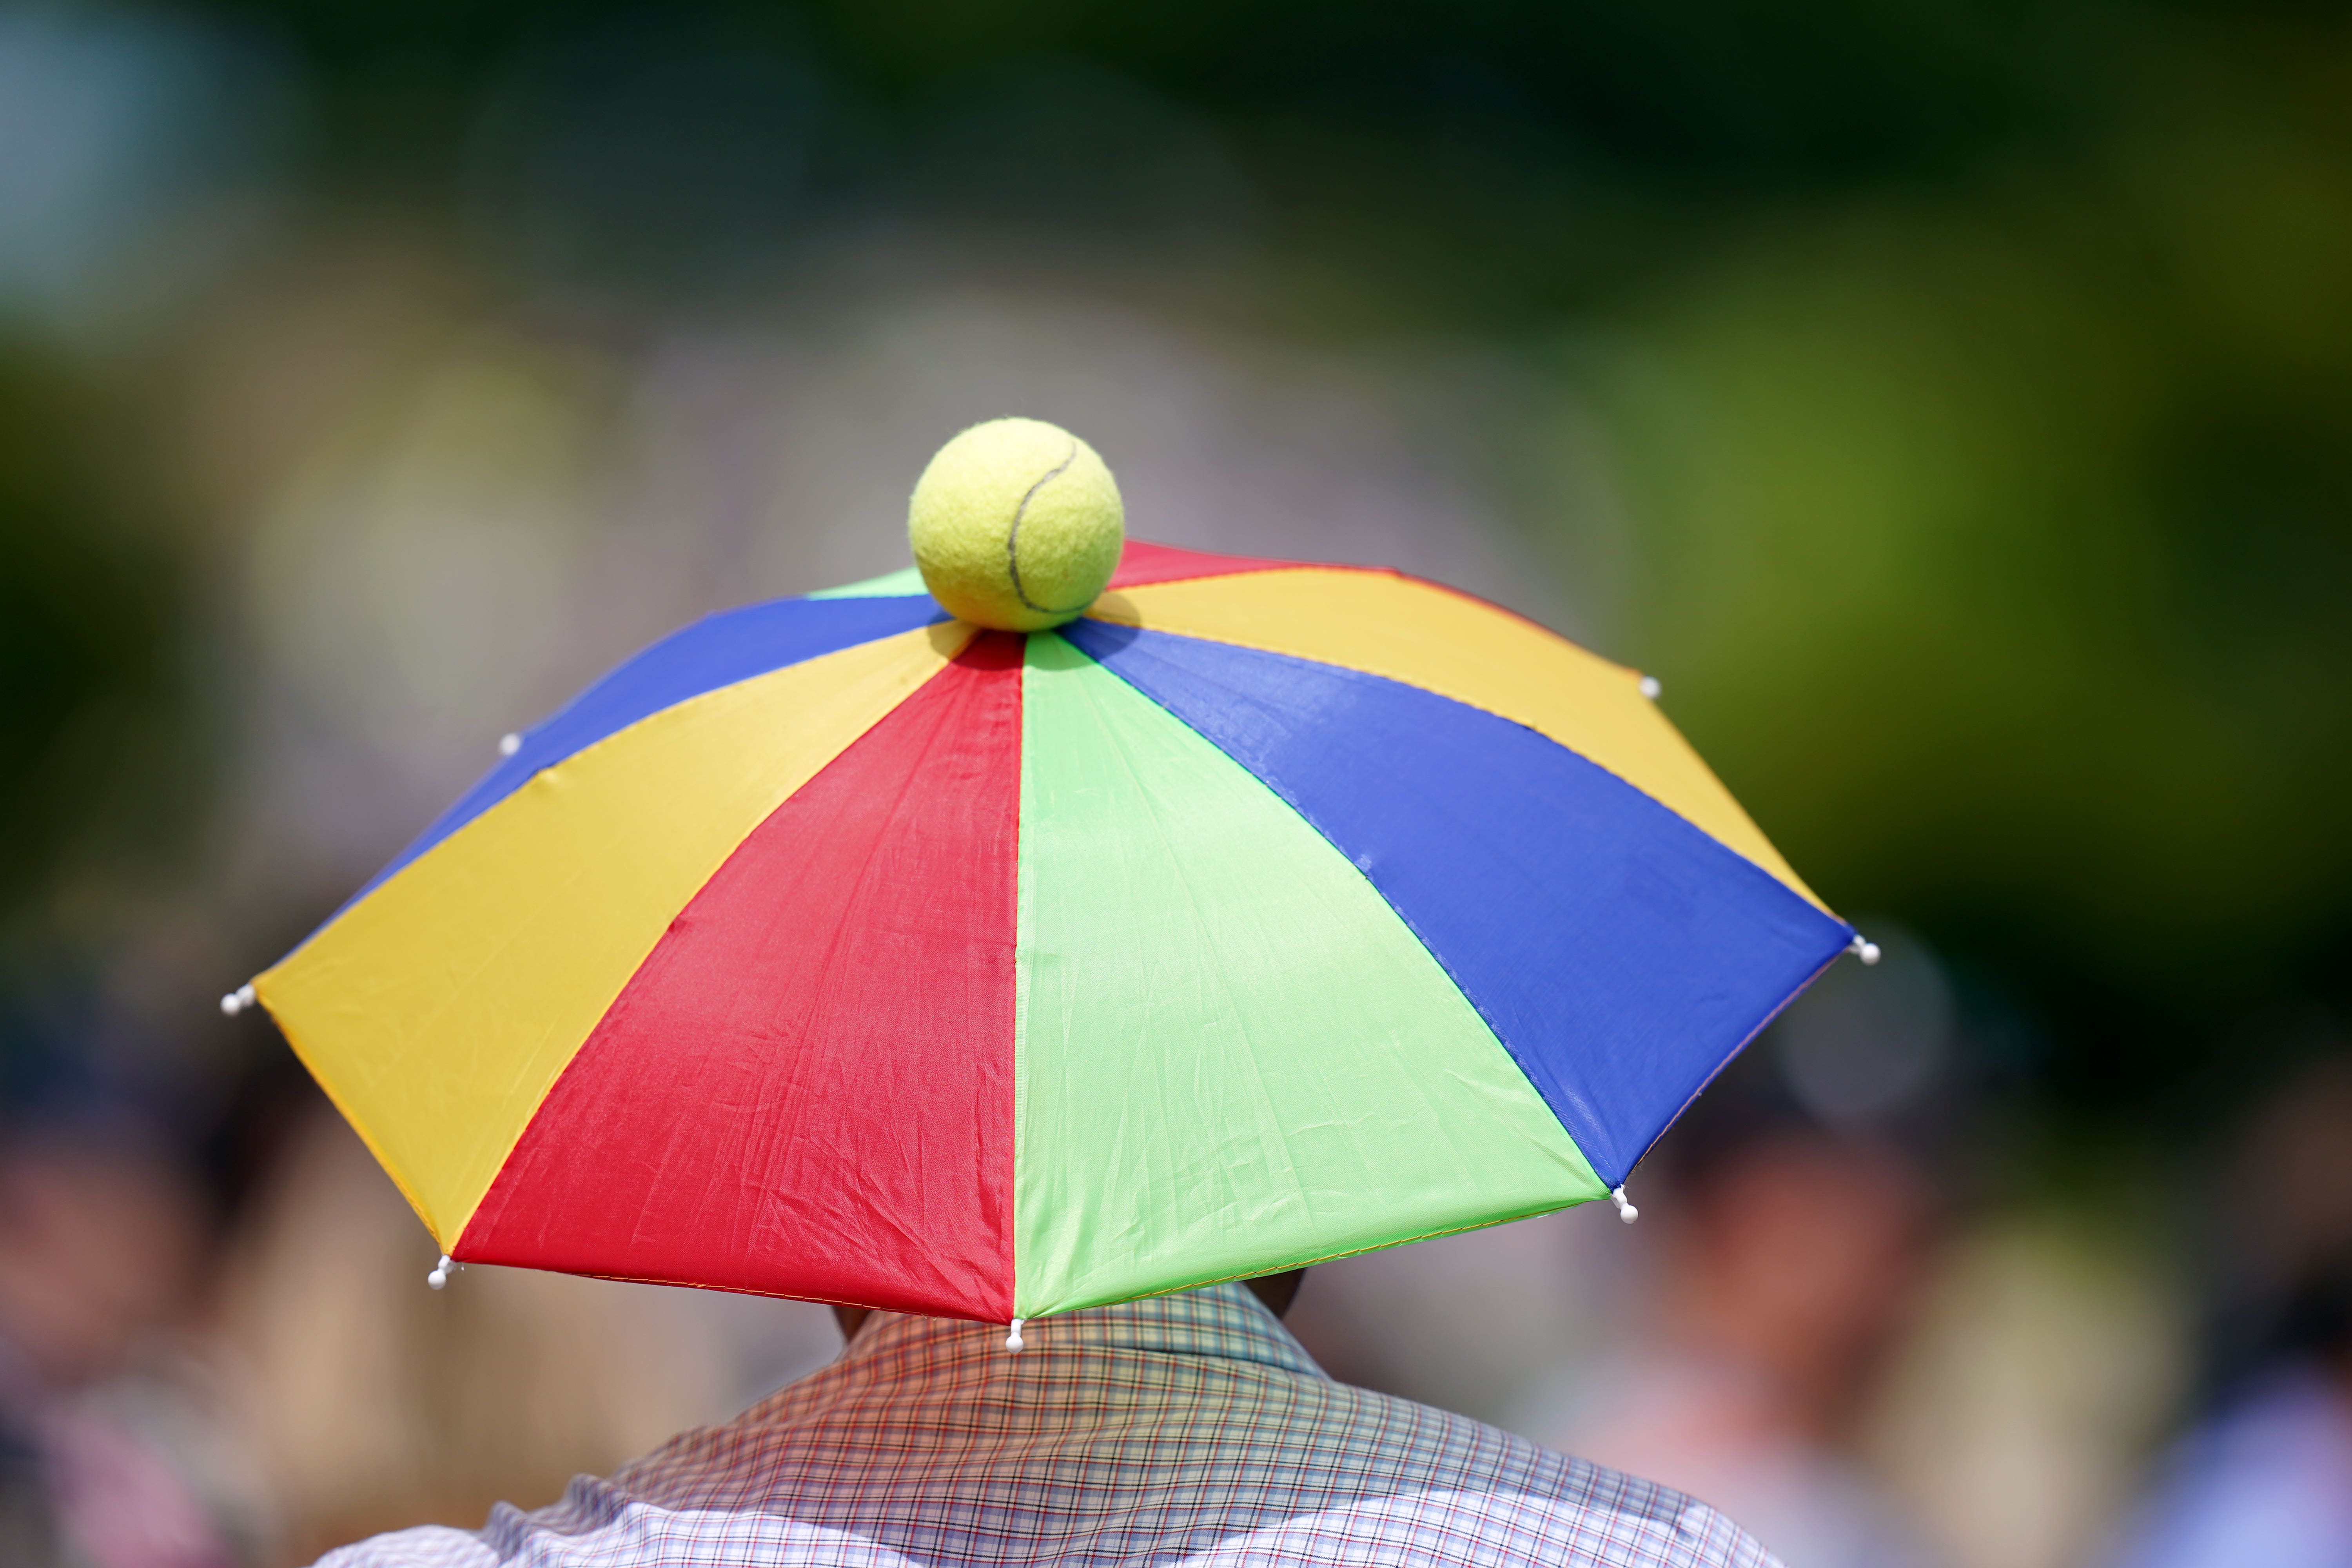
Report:
[[[2343,7],[9,2],[0,1556],[473,1526],[833,1354],[428,1293],[214,999],[997,414],[1658,675],[1886,947],[1642,1225],[1317,1269],[1334,1373],[1795,1568],[2138,1561],[2298,1366],[2352,1434]]]

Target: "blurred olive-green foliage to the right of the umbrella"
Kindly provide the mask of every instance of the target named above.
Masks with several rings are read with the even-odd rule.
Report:
[[[1752,235],[1595,376],[1677,715],[1832,900],[2025,987],[2060,1048],[2023,1065],[2082,1107],[2211,1110],[2291,1048],[2263,1011],[2345,999],[2324,42],[2176,61],[2065,167]]]

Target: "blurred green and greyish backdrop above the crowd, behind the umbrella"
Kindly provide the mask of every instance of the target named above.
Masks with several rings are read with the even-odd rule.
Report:
[[[2194,1253],[2345,1048],[2343,7],[252,0],[0,7],[9,1093],[233,1222],[212,999],[1004,411],[1656,672],[1985,1192]]]

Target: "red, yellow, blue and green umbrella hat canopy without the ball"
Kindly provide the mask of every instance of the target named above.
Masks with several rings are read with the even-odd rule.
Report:
[[[240,997],[461,1262],[1268,1274],[1609,1197],[1858,945],[1646,691],[1383,569],[1127,541],[1040,632],[908,569],[635,656]]]

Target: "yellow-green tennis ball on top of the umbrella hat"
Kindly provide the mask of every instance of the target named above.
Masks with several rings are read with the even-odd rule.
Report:
[[[1094,447],[1042,418],[990,418],[938,449],[906,508],[922,585],[1007,632],[1075,621],[1120,567],[1127,510]]]

